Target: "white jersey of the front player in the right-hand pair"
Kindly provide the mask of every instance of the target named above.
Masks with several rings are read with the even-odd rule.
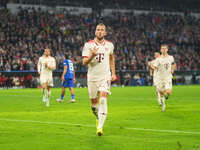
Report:
[[[171,55],[161,56],[157,58],[152,65],[157,68],[156,79],[172,80],[172,63],[174,63],[174,57]]]

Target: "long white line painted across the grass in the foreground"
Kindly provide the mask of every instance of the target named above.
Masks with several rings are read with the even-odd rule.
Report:
[[[52,121],[37,121],[37,120],[17,120],[17,119],[7,119],[7,118],[0,118],[0,121],[40,123],[40,124],[49,124],[49,125],[53,125],[53,124],[54,125],[70,125],[70,126],[80,126],[80,127],[96,127],[94,125],[76,124],[76,123],[68,123],[68,122],[52,122]],[[162,133],[181,133],[181,134],[200,135],[200,132],[190,132],[190,131],[181,131],[181,130],[162,130],[162,129],[148,129],[148,128],[131,128],[131,127],[112,127],[112,128],[127,129],[127,130],[137,130],[137,131],[162,132]]]

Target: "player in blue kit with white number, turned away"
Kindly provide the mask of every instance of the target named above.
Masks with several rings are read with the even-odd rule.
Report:
[[[68,87],[71,93],[71,100],[70,103],[75,102],[75,96],[74,96],[74,83],[76,82],[75,79],[75,72],[74,72],[74,66],[70,59],[68,59],[68,54],[65,54],[63,56],[63,74],[62,74],[62,94],[60,96],[60,99],[57,99],[57,102],[63,102],[63,98],[65,95],[65,88]]]

